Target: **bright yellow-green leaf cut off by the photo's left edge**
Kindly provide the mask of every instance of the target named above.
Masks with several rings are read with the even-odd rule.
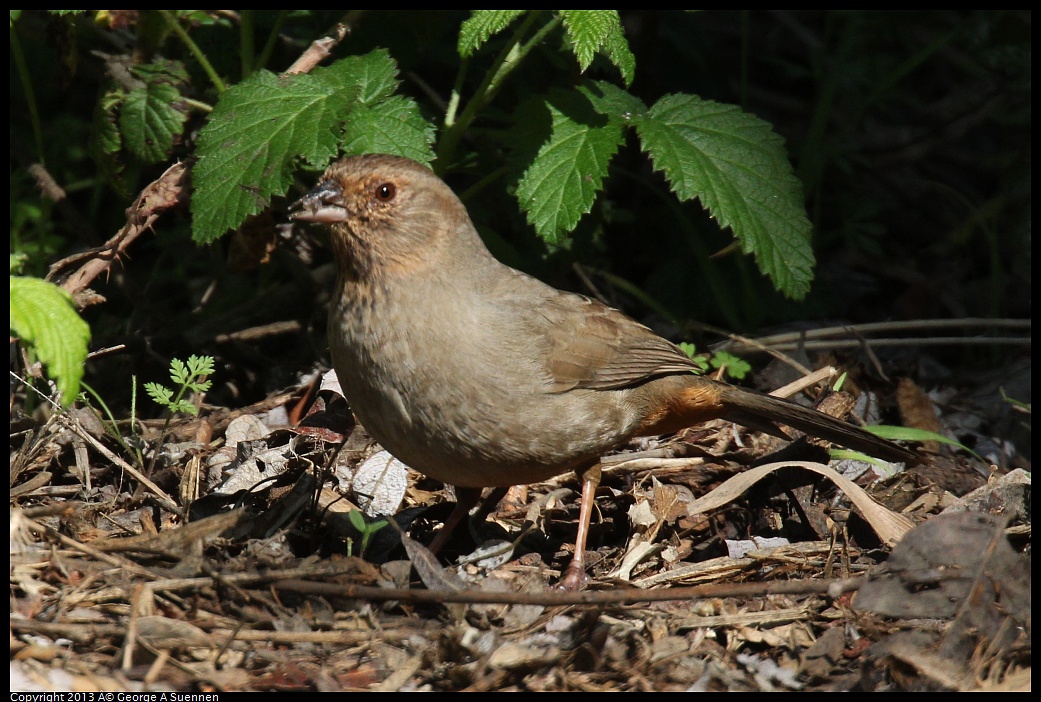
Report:
[[[69,294],[40,278],[10,278],[10,328],[31,344],[68,406],[79,394],[91,341],[87,326]]]

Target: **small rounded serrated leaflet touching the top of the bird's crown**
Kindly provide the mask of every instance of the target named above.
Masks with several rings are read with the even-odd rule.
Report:
[[[345,123],[344,152],[392,153],[429,164],[434,159],[434,126],[411,98],[393,96],[358,105]]]

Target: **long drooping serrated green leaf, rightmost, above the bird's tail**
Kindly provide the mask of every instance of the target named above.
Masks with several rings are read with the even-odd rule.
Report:
[[[810,222],[783,140],[734,105],[693,95],[659,100],[634,124],[655,168],[682,200],[697,198],[785,295],[813,279]]]

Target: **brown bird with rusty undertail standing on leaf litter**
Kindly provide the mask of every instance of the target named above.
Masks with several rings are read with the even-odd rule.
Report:
[[[338,279],[329,347],[344,395],[391,454],[455,485],[439,548],[481,488],[578,473],[575,556],[585,579],[600,457],[634,436],[726,419],[785,424],[892,460],[910,451],[798,404],[691,373],[648,327],[497,260],[430,169],[369,154],[329,167],[293,219],[329,226]],[[501,493],[500,493],[501,497]]]

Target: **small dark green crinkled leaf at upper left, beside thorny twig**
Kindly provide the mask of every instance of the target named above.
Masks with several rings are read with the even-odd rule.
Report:
[[[120,127],[126,147],[146,164],[170,155],[174,136],[181,133],[187,116],[173,104],[181,93],[167,82],[147,83],[127,95],[120,110]]]

